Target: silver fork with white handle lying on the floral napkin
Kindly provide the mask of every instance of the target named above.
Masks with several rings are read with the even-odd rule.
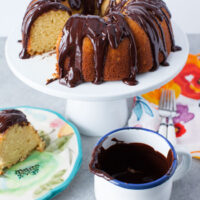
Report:
[[[162,118],[159,133],[166,137],[173,145],[176,145],[173,117],[176,115],[175,93],[173,90],[162,90],[159,115]]]

